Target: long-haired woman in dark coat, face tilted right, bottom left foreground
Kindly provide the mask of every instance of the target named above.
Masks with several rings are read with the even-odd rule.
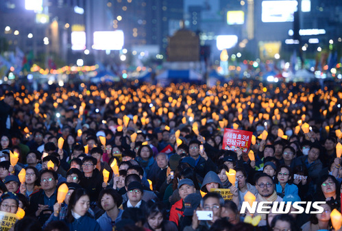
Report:
[[[99,223],[88,213],[90,208],[90,197],[84,189],[75,189],[69,199],[68,211],[66,213],[66,226],[70,230],[101,231]],[[53,221],[58,217],[53,216]]]

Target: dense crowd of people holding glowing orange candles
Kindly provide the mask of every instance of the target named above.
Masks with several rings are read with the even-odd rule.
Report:
[[[33,93],[18,86],[0,101],[0,211],[24,210],[12,227],[21,231],[333,230],[340,89],[255,80],[80,83]],[[253,132],[252,160],[249,149],[223,149],[225,127]],[[251,224],[240,214],[247,192],[256,202],[327,203],[321,214],[262,213]]]

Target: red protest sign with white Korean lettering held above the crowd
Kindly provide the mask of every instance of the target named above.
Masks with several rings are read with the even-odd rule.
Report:
[[[243,152],[247,152],[251,145],[252,135],[253,132],[225,128],[222,149],[236,151],[239,147]]]

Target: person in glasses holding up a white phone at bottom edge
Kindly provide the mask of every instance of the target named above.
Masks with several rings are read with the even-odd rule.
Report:
[[[224,210],[224,199],[218,193],[207,193],[201,199],[201,210],[204,211],[212,211],[212,220],[210,221],[200,221],[197,217],[197,214],[194,212],[193,221],[191,226],[186,226],[184,231],[205,231],[209,230],[217,219],[221,218],[221,212]]]

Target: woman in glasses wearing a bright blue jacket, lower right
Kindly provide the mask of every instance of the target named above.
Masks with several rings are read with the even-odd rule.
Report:
[[[298,187],[293,184],[293,173],[287,165],[279,167],[276,173],[276,191],[281,195],[298,195]]]

